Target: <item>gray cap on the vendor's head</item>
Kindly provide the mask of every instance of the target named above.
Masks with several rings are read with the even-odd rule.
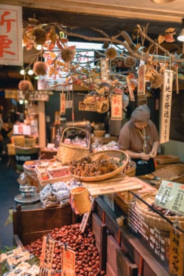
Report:
[[[132,119],[140,122],[148,122],[150,119],[150,108],[146,104],[138,106],[132,112]]]

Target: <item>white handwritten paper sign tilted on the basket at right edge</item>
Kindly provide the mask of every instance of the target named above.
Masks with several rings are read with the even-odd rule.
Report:
[[[174,213],[184,214],[184,184],[163,180],[154,203]]]

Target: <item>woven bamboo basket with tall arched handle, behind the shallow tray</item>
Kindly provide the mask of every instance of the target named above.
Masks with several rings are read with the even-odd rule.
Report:
[[[63,143],[65,132],[67,132],[68,130],[85,132],[87,147],[85,148],[83,146]],[[57,151],[56,159],[57,161],[60,161],[61,164],[68,165],[72,160],[79,160],[82,157],[89,155],[90,144],[91,144],[91,135],[90,135],[90,132],[88,132],[88,130],[85,130],[85,128],[76,128],[76,127],[65,128],[61,136],[61,141],[59,143],[59,149]]]

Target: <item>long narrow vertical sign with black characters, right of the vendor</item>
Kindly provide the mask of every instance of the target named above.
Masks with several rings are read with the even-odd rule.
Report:
[[[172,70],[165,70],[163,78],[163,94],[161,102],[161,127],[160,143],[166,143],[170,140],[170,117],[172,103]]]

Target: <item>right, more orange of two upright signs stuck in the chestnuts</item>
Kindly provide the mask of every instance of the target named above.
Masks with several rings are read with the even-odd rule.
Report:
[[[68,246],[61,246],[62,276],[75,275],[75,253]]]

